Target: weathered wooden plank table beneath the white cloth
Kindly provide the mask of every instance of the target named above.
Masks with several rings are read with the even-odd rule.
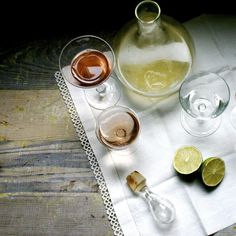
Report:
[[[113,235],[54,79],[69,40],[0,52],[0,235]],[[230,226],[217,235],[236,235]]]

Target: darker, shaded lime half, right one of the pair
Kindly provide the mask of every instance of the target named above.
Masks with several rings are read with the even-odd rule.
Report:
[[[201,167],[202,181],[206,186],[217,186],[225,176],[225,163],[219,157],[207,158]]]

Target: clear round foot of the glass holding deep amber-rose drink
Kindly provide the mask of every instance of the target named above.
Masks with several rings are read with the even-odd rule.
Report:
[[[114,77],[110,77],[96,88],[85,90],[84,93],[89,105],[99,110],[116,105],[121,96],[118,82]]]

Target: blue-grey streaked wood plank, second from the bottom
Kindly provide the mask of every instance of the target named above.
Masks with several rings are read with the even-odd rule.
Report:
[[[78,141],[0,145],[0,192],[98,192]]]

